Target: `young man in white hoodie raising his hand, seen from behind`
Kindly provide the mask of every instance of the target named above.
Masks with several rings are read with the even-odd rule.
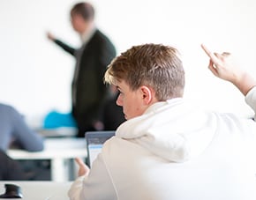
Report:
[[[209,69],[230,81],[255,111],[256,82],[213,54]],[[89,170],[80,160],[72,200],[255,200],[256,123],[206,112],[183,99],[184,68],[176,48],[132,47],[109,65],[127,119]]]

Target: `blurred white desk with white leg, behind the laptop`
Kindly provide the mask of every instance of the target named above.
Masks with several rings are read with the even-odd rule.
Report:
[[[52,181],[68,181],[68,171],[66,170],[68,159],[87,158],[85,138],[45,138],[44,145],[45,149],[42,152],[11,149],[7,153],[12,159],[49,159]]]

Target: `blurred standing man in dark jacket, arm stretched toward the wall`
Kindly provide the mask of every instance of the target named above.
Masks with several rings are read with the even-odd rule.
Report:
[[[104,85],[104,72],[116,56],[116,48],[96,26],[94,7],[89,3],[75,4],[71,10],[73,29],[82,41],[80,48],[72,48],[48,33],[48,38],[76,59],[72,79],[72,115],[79,129],[78,137],[88,130],[102,130],[102,107],[109,95]]]

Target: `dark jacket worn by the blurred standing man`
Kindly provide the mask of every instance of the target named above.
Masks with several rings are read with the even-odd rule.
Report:
[[[95,121],[102,119],[102,107],[109,96],[103,76],[107,66],[116,56],[116,49],[99,30],[96,30],[91,40],[79,49],[72,48],[62,41],[55,42],[77,59],[72,80],[72,115],[78,124],[79,137],[84,137],[84,132],[90,130]]]

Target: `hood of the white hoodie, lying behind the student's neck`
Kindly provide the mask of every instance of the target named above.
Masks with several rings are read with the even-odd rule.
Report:
[[[122,123],[116,136],[174,162],[199,156],[216,130],[214,113],[200,111],[181,98],[157,102],[143,115]]]

